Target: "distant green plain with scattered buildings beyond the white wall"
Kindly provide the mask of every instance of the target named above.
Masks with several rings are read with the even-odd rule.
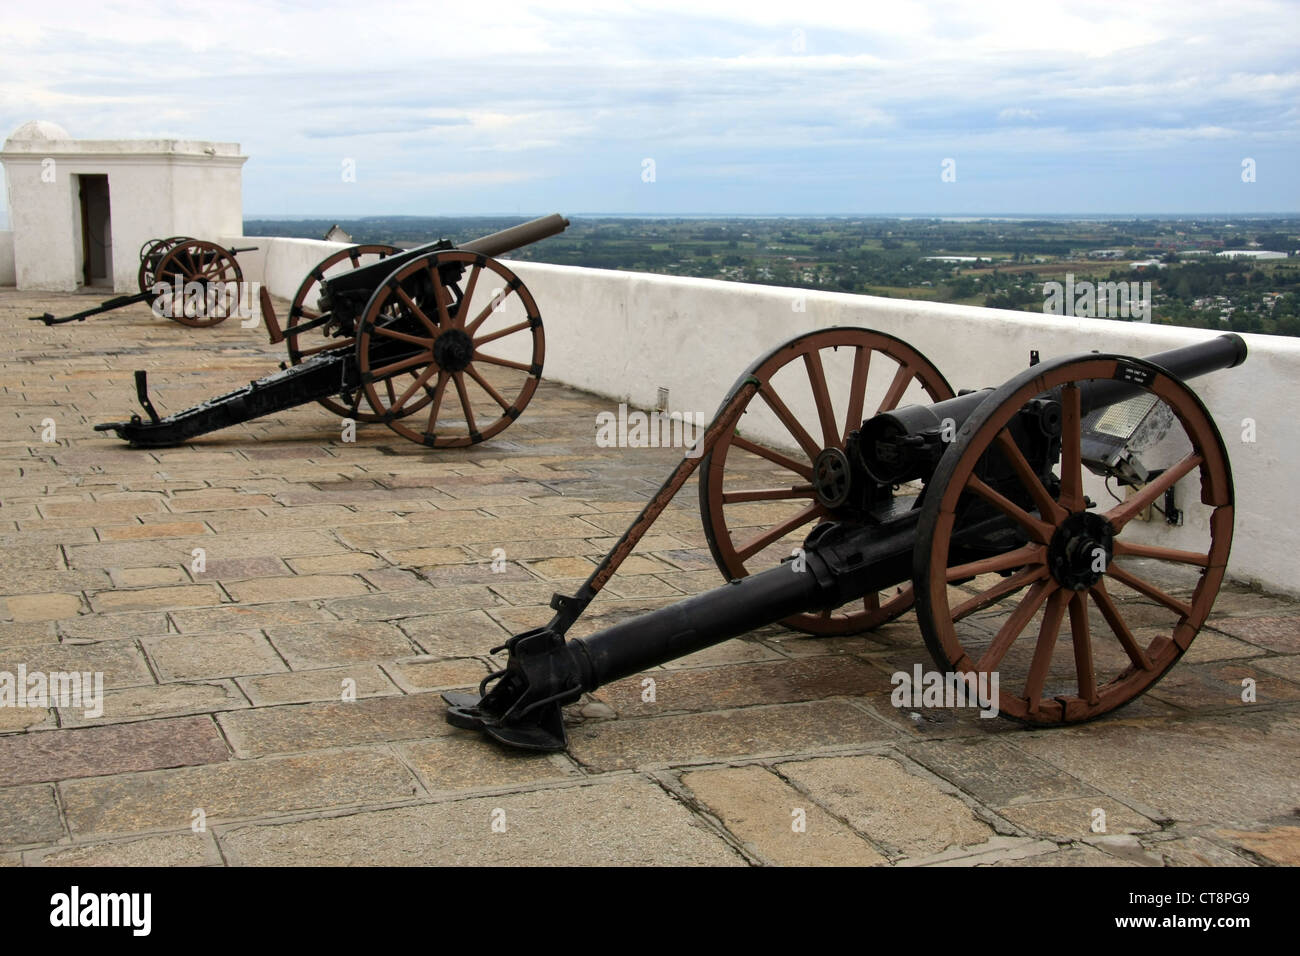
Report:
[[[563,235],[514,258],[1300,336],[1300,216],[571,220]],[[519,221],[251,219],[244,232],[413,246],[467,239]],[[1076,289],[1082,291],[1074,295]]]

